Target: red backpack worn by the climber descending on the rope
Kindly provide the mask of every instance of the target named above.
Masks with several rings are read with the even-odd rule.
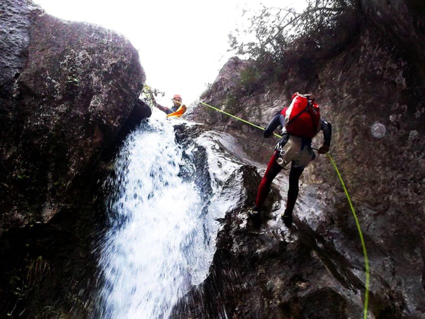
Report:
[[[320,131],[320,110],[316,103],[308,103],[307,96],[298,92],[281,114],[285,117],[285,129],[290,135],[312,139]]]

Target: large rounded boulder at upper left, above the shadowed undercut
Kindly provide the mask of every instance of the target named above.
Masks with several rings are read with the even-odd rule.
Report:
[[[28,1],[0,6],[1,233],[58,212],[74,177],[127,121],[145,76],[136,49],[113,31]]]

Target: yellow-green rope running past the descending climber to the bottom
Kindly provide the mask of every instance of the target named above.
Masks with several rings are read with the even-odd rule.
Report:
[[[243,122],[243,123],[246,123],[246,124],[248,124],[248,125],[251,125],[251,126],[253,126],[253,127],[257,128],[257,129],[260,129],[260,130],[263,130],[263,131],[265,131],[265,130],[266,130],[265,128],[263,128],[263,127],[261,127],[261,126],[258,126],[258,125],[254,124],[254,123],[251,123],[251,122],[249,122],[249,121],[246,121],[246,120],[244,120],[244,119],[241,119],[241,118],[239,118],[239,117],[237,117],[237,116],[235,116],[235,115],[233,115],[233,114],[230,114],[230,113],[228,113],[228,112],[222,111],[222,110],[220,110],[220,109],[218,109],[218,108],[216,108],[216,107],[214,107],[214,106],[212,106],[212,105],[209,105],[209,104],[204,103],[204,102],[201,102],[201,101],[198,101],[198,102],[199,102],[200,104],[204,105],[204,106],[207,106],[207,107],[209,107],[209,108],[211,108],[211,109],[213,109],[213,110],[215,110],[215,111],[218,111],[218,112],[224,113],[224,114],[226,114],[226,115],[228,115],[228,116],[230,116],[230,117],[232,117],[232,118],[234,118],[234,119],[236,119],[236,120],[238,120],[238,121],[241,121],[241,122]],[[280,138],[280,139],[282,138],[282,136],[280,136],[279,134],[274,133],[274,135],[275,135],[276,137]],[[314,149],[314,148],[313,148],[313,149]],[[317,149],[314,149],[314,150],[316,150],[316,151],[317,151]],[[357,218],[356,211],[354,210],[354,206],[353,206],[353,204],[352,204],[352,202],[351,202],[350,195],[348,194],[348,190],[347,190],[347,188],[345,187],[345,183],[344,183],[344,180],[342,179],[341,173],[339,172],[339,169],[338,169],[338,167],[336,166],[335,161],[332,159],[332,157],[330,156],[330,154],[329,154],[328,152],[326,152],[326,156],[328,157],[328,159],[329,159],[329,160],[330,160],[330,162],[332,163],[333,167],[335,168],[336,173],[338,174],[339,180],[341,181],[342,188],[344,189],[345,196],[347,197],[348,203],[350,204],[351,212],[353,213],[354,220],[356,221],[357,230],[358,230],[358,232],[359,232],[360,241],[361,241],[361,243],[362,243],[363,256],[364,256],[364,259],[365,259],[365,271],[366,271],[365,302],[364,302],[364,307],[363,307],[363,319],[367,319],[368,304],[369,304],[369,280],[370,280],[370,270],[369,270],[369,259],[368,259],[368,257],[367,257],[366,245],[365,245],[365,241],[364,241],[364,238],[363,238],[362,229],[361,229],[361,227],[360,227],[360,223],[359,223],[359,220],[358,220],[358,218]]]

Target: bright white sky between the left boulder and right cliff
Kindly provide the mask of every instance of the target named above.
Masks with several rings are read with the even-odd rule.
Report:
[[[34,0],[59,18],[100,24],[124,34],[139,50],[146,84],[197,100],[224,63],[233,56],[228,34],[243,23],[243,8],[291,5],[292,0]],[[299,7],[297,1],[296,6]],[[302,4],[301,4],[302,5]]]

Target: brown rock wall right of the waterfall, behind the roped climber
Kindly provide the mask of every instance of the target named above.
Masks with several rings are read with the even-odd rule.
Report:
[[[250,62],[232,58],[204,92],[203,100],[266,126],[272,115],[288,104],[293,92],[315,92],[323,118],[332,123],[330,153],[345,179],[365,236],[371,266],[370,314],[372,318],[423,318],[425,77],[419,67],[424,64],[423,41],[419,39],[425,35],[424,7],[416,1],[361,4],[365,23],[358,34],[310,74],[295,76],[294,68],[282,82],[250,91],[241,79]],[[271,156],[276,141],[263,142],[256,129],[201,105],[191,117],[238,136],[251,159],[266,164]],[[319,146],[320,139],[313,144]],[[263,155],[264,150],[268,156]],[[282,179],[277,184],[285,199]],[[295,214],[297,231],[291,234],[297,238],[284,249],[280,248],[282,242],[270,235],[256,246],[258,238],[239,232],[237,218],[228,216],[228,231],[219,236],[211,282],[202,287],[210,293],[194,292],[189,300],[213,305],[213,300],[225,294],[227,315],[234,318],[360,317],[365,276],[359,235],[326,158],[320,157],[304,172]],[[272,217],[278,219],[278,214],[272,213]],[[269,222],[262,227],[266,232],[273,225]],[[256,250],[249,253],[247,247]],[[264,251],[270,255],[263,255]],[[297,261],[299,256],[303,258]],[[286,258],[287,263],[283,261]],[[247,263],[254,265],[257,274]],[[219,271],[221,265],[225,275]],[[241,283],[226,273],[241,274]],[[218,283],[210,285],[212,282]],[[242,284],[251,282],[255,284]],[[329,307],[319,307],[328,299],[339,311],[327,313]],[[310,308],[309,304],[317,306]],[[313,308],[316,312],[309,313]],[[187,306],[186,310],[202,313],[199,306]]]

